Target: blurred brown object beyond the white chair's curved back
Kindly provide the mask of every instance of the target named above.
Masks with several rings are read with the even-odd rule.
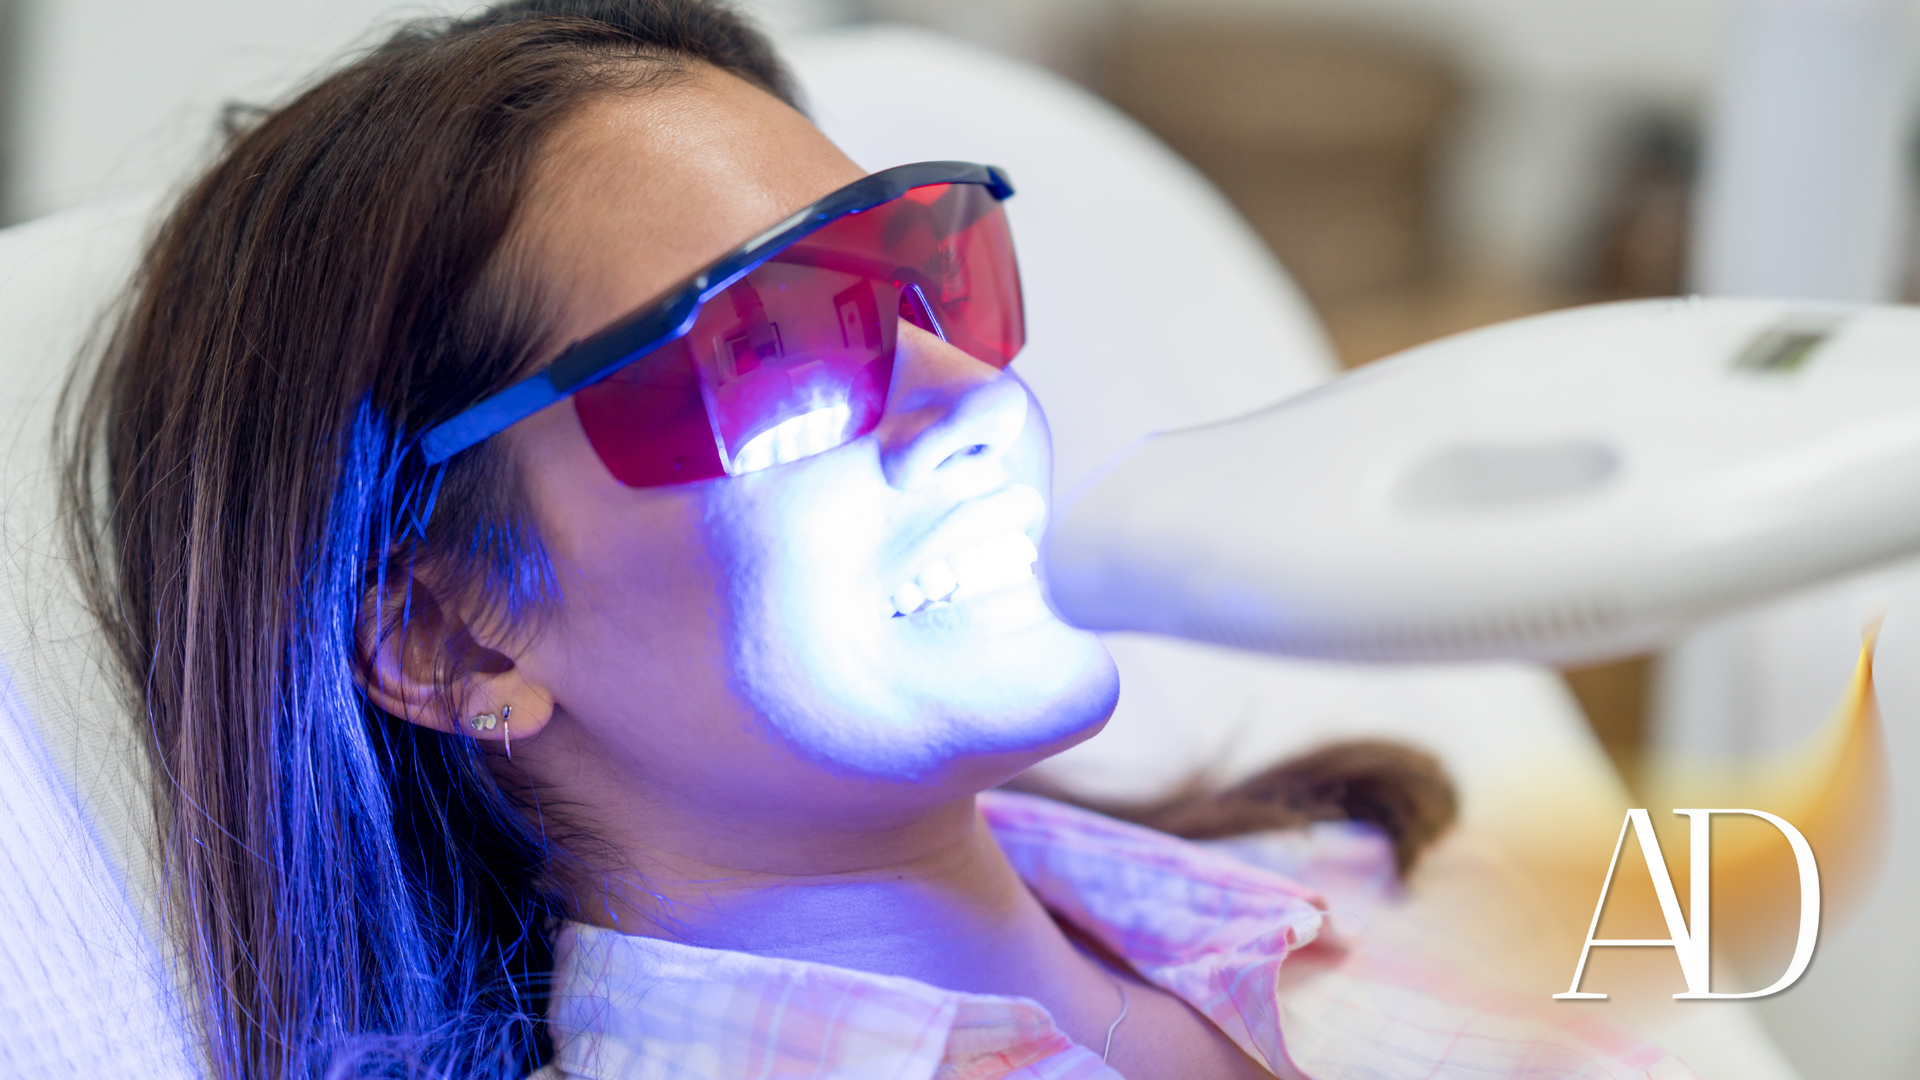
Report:
[[[1452,250],[1442,186],[1473,96],[1452,42],[1277,12],[1121,10],[1094,86],[1221,188],[1342,363],[1572,302]]]

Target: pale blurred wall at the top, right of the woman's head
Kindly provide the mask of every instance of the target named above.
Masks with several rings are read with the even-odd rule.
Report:
[[[1444,219],[1473,263],[1565,279],[1647,113],[1697,115],[1734,0],[868,0],[1089,77],[1089,38],[1139,15],[1348,23],[1457,58],[1471,81]]]

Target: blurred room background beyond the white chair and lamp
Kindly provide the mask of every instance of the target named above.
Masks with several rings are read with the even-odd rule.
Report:
[[[1104,96],[1227,194],[1350,367],[1594,300],[1920,288],[1920,0],[741,6],[776,35],[922,25]],[[465,4],[0,0],[0,225],[177,184],[227,104],[271,102],[449,8]],[[1778,749],[1824,717],[1897,580],[1565,675],[1628,780],[1663,746]],[[1803,648],[1807,626],[1839,644]]]

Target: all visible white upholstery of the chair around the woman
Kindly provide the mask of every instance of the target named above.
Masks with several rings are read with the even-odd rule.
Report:
[[[910,31],[787,42],[822,127],[868,167],[927,158],[1004,165],[1027,279],[1018,371],[1046,405],[1060,484],[1156,429],[1275,402],[1334,371],[1298,292],[1173,154],[1085,92]],[[154,863],[131,717],[58,561],[48,467],[54,398],[92,319],[125,281],[150,206],[98,208],[0,233],[0,1072],[188,1076],[192,1051],[152,945]],[[1304,523],[1308,527],[1308,523]],[[1112,638],[1123,703],[1056,774],[1150,794],[1194,769],[1256,769],[1332,736],[1432,748],[1469,824],[1498,830],[1542,792],[1620,788],[1565,688],[1519,665],[1354,669]],[[1538,774],[1538,769],[1532,771]],[[1622,803],[1624,805],[1624,803]],[[1569,957],[1571,963],[1572,957]],[[1709,1080],[1791,1078],[1722,1011]],[[1709,1026],[1713,1026],[1709,1024]],[[1741,1026],[1745,1024],[1745,1026]],[[1718,1042],[1715,1042],[1718,1040]]]

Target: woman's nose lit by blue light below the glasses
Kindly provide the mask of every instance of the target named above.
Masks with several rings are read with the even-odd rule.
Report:
[[[889,484],[914,488],[950,463],[995,461],[1025,427],[1020,379],[900,323],[887,415],[876,429]]]

